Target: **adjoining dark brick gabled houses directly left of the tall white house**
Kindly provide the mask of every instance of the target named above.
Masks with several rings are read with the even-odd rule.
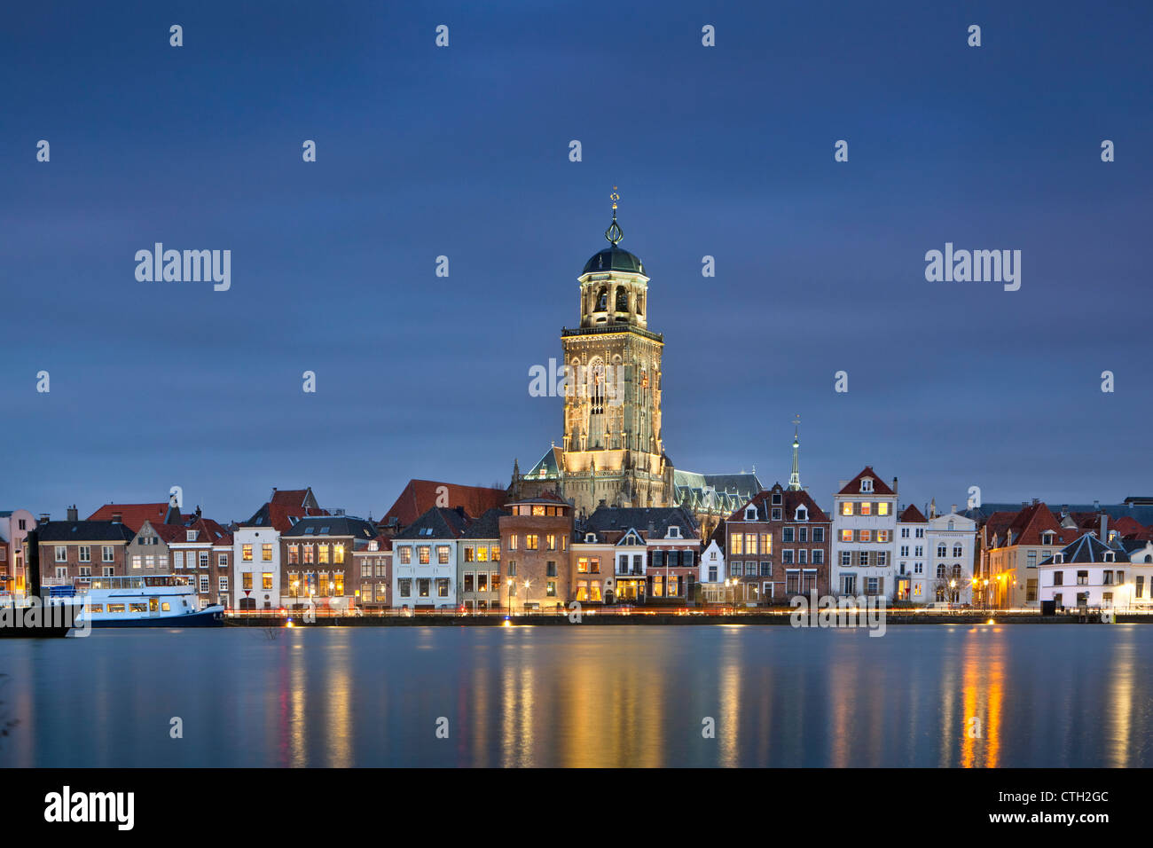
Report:
[[[758,493],[724,523],[729,588],[737,603],[784,603],[829,593],[831,523],[804,489],[781,483]]]

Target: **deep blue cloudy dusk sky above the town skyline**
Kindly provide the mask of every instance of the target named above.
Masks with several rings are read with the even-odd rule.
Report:
[[[866,464],[903,503],[1153,494],[1151,24],[1136,2],[9,5],[0,508],[180,486],[231,520],[311,486],[379,518],[412,478],[506,486],[563,435],[529,368],[579,323],[613,186],[677,467],[784,483],[800,413],[826,508]],[[231,250],[231,288],[137,280],[155,242]],[[1020,250],[1019,291],[927,282],[945,242]]]

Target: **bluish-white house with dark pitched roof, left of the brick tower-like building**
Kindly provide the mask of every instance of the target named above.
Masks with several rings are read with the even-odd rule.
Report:
[[[457,606],[457,542],[468,524],[462,506],[434,506],[393,536],[393,607]]]

